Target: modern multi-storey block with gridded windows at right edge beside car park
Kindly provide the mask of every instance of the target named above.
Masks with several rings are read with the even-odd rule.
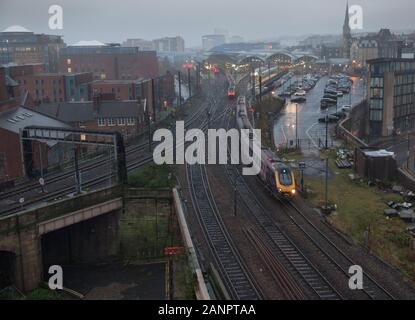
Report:
[[[368,61],[370,137],[399,135],[415,128],[415,59]]]

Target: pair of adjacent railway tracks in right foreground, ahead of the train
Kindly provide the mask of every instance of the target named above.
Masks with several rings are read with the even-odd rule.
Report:
[[[230,119],[227,126],[229,128]],[[244,177],[241,176],[238,166],[227,165],[226,172],[230,184],[234,186],[245,207],[255,219],[254,224],[257,230],[262,231],[261,235],[257,235],[258,239],[255,241],[252,234],[247,234],[248,238],[257,247],[258,241],[261,239],[262,246],[268,248],[267,250],[259,248],[262,251],[262,256],[265,254],[265,259],[268,263],[271,263],[272,259],[270,256],[273,255],[275,260],[284,265],[290,274],[295,275],[301,287],[306,288],[310,298],[395,299],[387,289],[366,272],[363,274],[363,290],[352,291],[348,288],[345,294],[344,291],[340,292],[339,289],[336,289],[332,282],[322,274],[320,267],[307,258],[308,254],[304,250],[300,250],[286,232],[277,225],[272,215],[263,207],[256,194],[247,185]],[[271,190],[268,191],[280,203],[282,210],[279,212],[283,213],[288,219],[290,228],[284,229],[290,231],[290,236],[293,233],[297,233],[301,234],[300,236],[302,237],[306,237],[309,244],[308,247],[312,248],[312,254],[317,255],[319,260],[331,269],[331,273],[338,277],[338,281],[343,282],[343,288],[347,287],[351,276],[348,272],[349,267],[357,265],[356,261],[325,235],[291,200],[281,199]],[[308,250],[308,253],[310,253],[310,250]],[[274,261],[274,263],[276,262]],[[279,265],[278,268],[280,269]],[[271,265],[269,269],[275,269],[275,265]],[[288,288],[287,297],[297,297],[297,287],[293,280],[290,278],[285,278],[285,280],[286,282],[285,284],[283,282],[283,284]],[[281,279],[279,281],[281,283]]]

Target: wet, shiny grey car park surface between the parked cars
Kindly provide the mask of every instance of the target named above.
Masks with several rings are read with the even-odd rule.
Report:
[[[293,77],[292,81],[300,79],[298,76]],[[336,106],[330,107],[327,110],[320,109],[320,100],[324,93],[324,88],[328,77],[322,77],[316,86],[310,90],[307,95],[305,103],[298,104],[297,107],[297,137],[300,139],[300,146],[305,155],[318,154],[319,139],[322,143],[325,142],[325,124],[319,123],[318,119],[325,116],[326,113],[336,112]],[[353,79],[353,86],[351,90],[351,102],[355,105],[363,100],[364,84],[358,78]],[[289,81],[280,88],[276,94],[285,91],[289,85]],[[281,112],[280,116],[274,123],[274,141],[277,146],[295,144],[296,139],[296,104],[287,100],[287,104]],[[350,94],[346,94],[338,99],[339,109],[343,105],[350,104]],[[332,128],[334,124],[330,124]],[[329,144],[336,143],[329,139]]]

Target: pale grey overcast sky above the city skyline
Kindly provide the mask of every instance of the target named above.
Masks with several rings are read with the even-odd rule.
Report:
[[[64,28],[48,28],[48,8],[63,7]],[[364,31],[415,29],[415,0],[350,0],[363,8]],[[22,25],[65,42],[181,35],[201,45],[214,28],[246,40],[341,32],[346,0],[0,0],[0,30]]]

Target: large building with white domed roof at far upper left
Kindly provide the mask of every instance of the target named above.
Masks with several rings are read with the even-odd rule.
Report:
[[[57,72],[59,50],[63,47],[61,36],[35,34],[12,26],[0,32],[0,64],[42,63],[47,72]]]

